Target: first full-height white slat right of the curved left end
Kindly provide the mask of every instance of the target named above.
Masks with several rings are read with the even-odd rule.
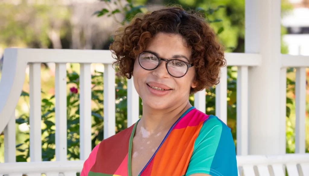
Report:
[[[30,160],[42,161],[41,141],[41,63],[29,64]]]

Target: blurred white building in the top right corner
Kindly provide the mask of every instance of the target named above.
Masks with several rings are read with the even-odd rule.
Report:
[[[309,1],[289,1],[294,9],[281,21],[288,30],[283,41],[288,45],[290,55],[309,55]]]

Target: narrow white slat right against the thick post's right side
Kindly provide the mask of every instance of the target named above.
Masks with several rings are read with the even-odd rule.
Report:
[[[280,153],[286,153],[286,67],[280,69]]]

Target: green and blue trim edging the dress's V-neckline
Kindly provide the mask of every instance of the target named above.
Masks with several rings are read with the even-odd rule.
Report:
[[[192,109],[194,109],[195,107],[192,106],[190,108],[188,108],[179,118],[178,120],[171,126],[171,128],[168,130],[167,134],[165,135],[165,137],[163,138],[161,144],[159,145],[158,149],[155,151],[155,153],[152,155],[152,157],[150,158],[150,160],[147,162],[146,166],[142,169],[142,171],[138,174],[138,176],[140,176],[142,174],[142,172],[146,169],[146,167],[149,165],[149,163],[151,162],[151,160],[155,157],[155,154],[159,151],[160,147],[163,145],[164,141],[166,140],[166,138],[168,137],[168,135],[171,133],[172,129],[175,127],[175,125],[182,119],[182,117],[184,117],[188,112],[190,112]],[[129,139],[129,152],[128,152],[128,176],[132,176],[132,171],[131,171],[131,156],[132,156],[132,144],[133,144],[133,137],[136,131],[136,127],[138,122],[141,119],[138,119],[138,121],[134,124],[130,139]]]

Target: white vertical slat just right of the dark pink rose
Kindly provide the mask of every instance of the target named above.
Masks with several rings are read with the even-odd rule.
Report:
[[[80,159],[86,160],[91,153],[91,72],[90,63],[80,64],[79,76],[79,124]]]

